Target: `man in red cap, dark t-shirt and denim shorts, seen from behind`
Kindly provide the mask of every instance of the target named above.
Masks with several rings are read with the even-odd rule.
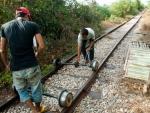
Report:
[[[29,10],[20,7],[16,10],[16,19],[2,25],[0,52],[6,70],[12,71],[13,84],[21,102],[25,102],[32,113],[40,113],[41,70],[33,50],[33,37],[35,36],[38,43],[36,55],[44,50],[45,44],[39,26],[29,21],[29,18]],[[11,54],[10,64],[7,57],[7,45]],[[31,88],[31,94],[28,92],[28,87]]]

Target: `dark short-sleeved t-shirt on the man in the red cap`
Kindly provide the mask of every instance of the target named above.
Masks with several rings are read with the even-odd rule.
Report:
[[[33,50],[33,37],[37,33],[40,33],[38,25],[23,19],[14,19],[2,25],[1,36],[9,44],[12,71],[38,65]]]

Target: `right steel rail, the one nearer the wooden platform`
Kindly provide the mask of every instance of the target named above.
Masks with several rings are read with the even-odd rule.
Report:
[[[75,97],[73,99],[73,103],[70,107],[64,108],[61,113],[73,113],[76,106],[81,102],[81,100],[87,95],[90,87],[92,84],[94,84],[94,81],[96,80],[97,74],[104,66],[105,62],[109,59],[109,57],[112,55],[112,53],[115,51],[117,46],[121,43],[121,41],[126,37],[126,35],[134,28],[134,26],[139,22],[142,16],[140,16],[137,21],[133,24],[133,26],[122,36],[122,38],[114,45],[112,50],[108,52],[106,57],[100,62],[99,68],[96,72],[93,72],[90,78],[86,81],[86,83],[80,88],[80,90],[75,94]]]

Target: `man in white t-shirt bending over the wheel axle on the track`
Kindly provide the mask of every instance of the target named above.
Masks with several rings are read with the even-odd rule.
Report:
[[[91,28],[83,28],[78,35],[78,56],[77,62],[80,61],[81,52],[84,56],[85,63],[91,63],[94,59],[94,39],[95,33]],[[87,48],[86,48],[87,47]]]

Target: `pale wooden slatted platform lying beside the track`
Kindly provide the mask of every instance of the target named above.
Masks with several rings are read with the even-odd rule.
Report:
[[[150,79],[150,46],[142,42],[132,42],[125,62],[125,77],[144,80]]]

